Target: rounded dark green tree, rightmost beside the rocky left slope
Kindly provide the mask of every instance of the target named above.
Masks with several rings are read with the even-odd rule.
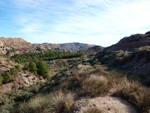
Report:
[[[37,73],[43,78],[49,78],[48,65],[44,61],[37,62]]]

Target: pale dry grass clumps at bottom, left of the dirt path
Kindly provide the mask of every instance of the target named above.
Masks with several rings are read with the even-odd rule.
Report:
[[[63,113],[70,112],[74,105],[74,94],[62,91],[40,95],[20,104],[13,113]]]

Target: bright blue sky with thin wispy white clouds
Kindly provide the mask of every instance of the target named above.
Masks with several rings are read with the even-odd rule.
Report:
[[[104,47],[150,31],[150,0],[0,0],[0,37]]]

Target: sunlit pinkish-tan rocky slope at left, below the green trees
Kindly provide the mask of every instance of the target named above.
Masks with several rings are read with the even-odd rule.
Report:
[[[17,65],[21,68],[19,71],[15,68]],[[29,71],[23,71],[22,67],[23,66],[21,64],[0,56],[0,75],[4,77],[5,74],[9,72],[12,77],[10,82],[4,84],[0,83],[0,93],[16,90],[16,88],[30,86],[43,81],[35,74]]]

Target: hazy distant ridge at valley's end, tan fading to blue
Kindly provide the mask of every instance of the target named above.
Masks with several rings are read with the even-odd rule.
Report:
[[[41,49],[66,49],[70,51],[79,51],[85,47],[93,47],[94,45],[83,44],[83,43],[64,43],[64,44],[51,44],[51,43],[43,43],[43,44],[34,44],[34,46],[39,47]]]

